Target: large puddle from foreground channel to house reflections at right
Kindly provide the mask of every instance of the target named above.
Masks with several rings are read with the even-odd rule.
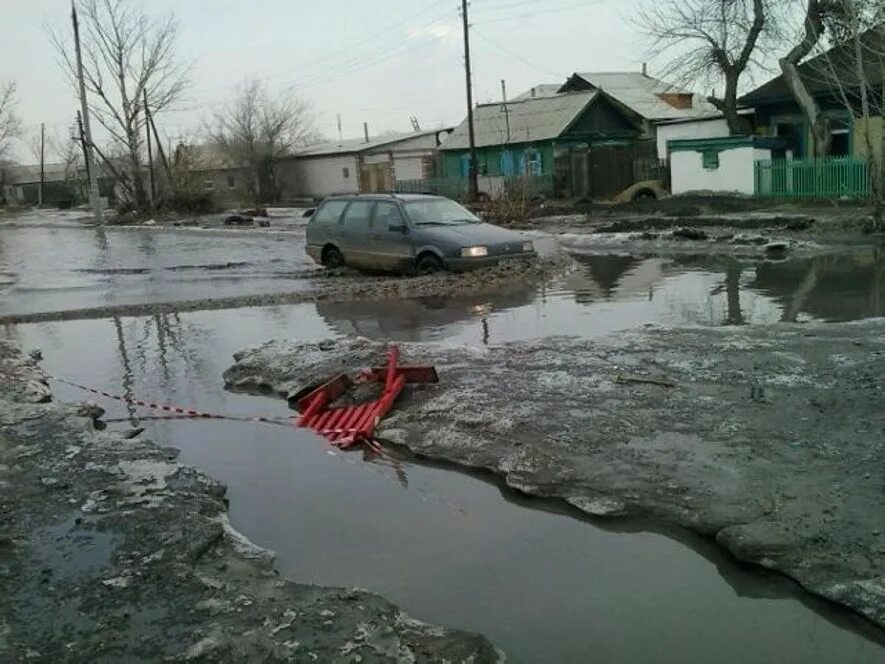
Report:
[[[459,344],[592,338],[654,322],[852,320],[885,307],[877,250],[779,263],[581,261],[566,278],[521,295],[46,323],[3,334],[42,348],[53,374],[102,390],[230,415],[285,415],[282,402],[222,389],[234,351],[336,334]],[[63,400],[85,398],[54,388]],[[234,524],[277,551],[283,573],[377,591],[423,620],[486,634],[511,661],[885,658],[859,619],[700,539],[588,522],[402,452],[394,451],[398,463],[369,462],[290,427],[154,420],[101,405],[111,427],[140,423],[227,483]]]

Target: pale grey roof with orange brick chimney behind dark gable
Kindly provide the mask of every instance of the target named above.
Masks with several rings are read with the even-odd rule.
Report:
[[[676,120],[679,118],[700,117],[716,112],[706,100],[653,76],[640,72],[578,72],[580,77],[594,88],[602,90],[609,97],[620,102],[631,111],[646,120]],[[571,82],[571,81],[570,81]],[[562,90],[569,88],[569,83]],[[659,94],[691,94],[693,107],[688,109],[674,108],[663,101]]]

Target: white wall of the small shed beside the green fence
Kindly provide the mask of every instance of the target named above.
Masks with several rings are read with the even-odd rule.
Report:
[[[704,168],[703,154],[686,151],[670,155],[674,195],[691,191],[716,191],[752,195],[755,192],[756,152],[752,146],[719,153],[719,168]]]

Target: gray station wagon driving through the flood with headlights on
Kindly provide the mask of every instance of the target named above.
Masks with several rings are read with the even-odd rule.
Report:
[[[535,257],[531,241],[441,196],[326,199],[307,226],[307,253],[327,267],[431,274]]]

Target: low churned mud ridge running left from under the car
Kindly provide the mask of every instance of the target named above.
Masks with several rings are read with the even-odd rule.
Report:
[[[13,314],[0,316],[0,325],[95,320],[112,316],[154,316],[174,312],[214,311],[242,307],[303,304],[305,302],[380,301],[512,293],[531,288],[545,279],[563,274],[569,271],[573,265],[573,259],[560,252],[534,262],[513,262],[462,274],[373,277],[350,271],[333,276],[326,276],[326,273],[323,273],[323,276],[312,279],[304,289],[294,292]]]

